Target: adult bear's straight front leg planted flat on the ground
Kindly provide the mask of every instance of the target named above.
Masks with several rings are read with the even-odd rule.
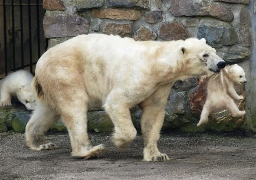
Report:
[[[144,139],[143,160],[145,161],[170,160],[166,154],[158,150],[157,142],[164,122],[164,108],[171,87],[172,83],[161,86],[140,104],[142,108],[141,131]]]

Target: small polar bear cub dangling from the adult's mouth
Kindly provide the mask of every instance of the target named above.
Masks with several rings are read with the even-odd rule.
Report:
[[[207,123],[209,113],[218,108],[228,108],[233,117],[240,117],[245,111],[240,111],[235,100],[242,100],[244,97],[238,95],[234,83],[246,83],[243,68],[237,64],[226,66],[220,70],[220,74],[212,75],[207,85],[207,99],[203,105],[200,121],[197,126]]]

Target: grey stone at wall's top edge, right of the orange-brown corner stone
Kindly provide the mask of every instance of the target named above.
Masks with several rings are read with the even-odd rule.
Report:
[[[102,7],[104,0],[76,0],[76,9],[81,11],[95,7]]]

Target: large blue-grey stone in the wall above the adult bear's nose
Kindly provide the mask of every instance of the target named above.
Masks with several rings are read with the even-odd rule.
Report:
[[[207,44],[214,48],[229,46],[238,42],[236,30],[230,26],[219,26],[214,24],[200,24],[197,37],[205,38]]]

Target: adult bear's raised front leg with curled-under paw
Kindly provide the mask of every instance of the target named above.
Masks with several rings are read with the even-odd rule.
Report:
[[[115,126],[112,142],[118,148],[125,148],[137,135],[137,131],[131,121],[130,109],[128,105],[125,104],[127,101],[122,102],[124,99],[125,97],[121,98],[121,95],[112,92],[108,95],[104,105],[105,110]]]

